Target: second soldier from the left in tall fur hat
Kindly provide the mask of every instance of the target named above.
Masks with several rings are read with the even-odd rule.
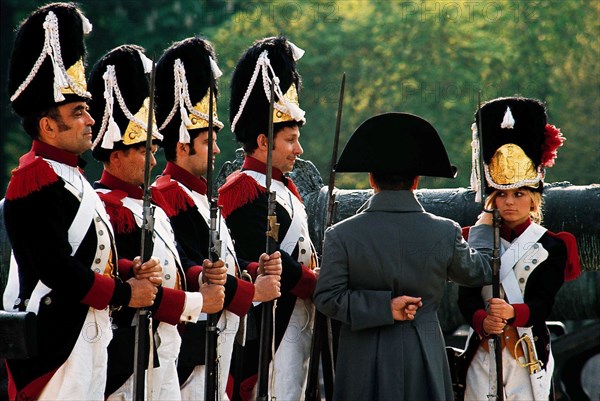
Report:
[[[150,158],[150,167],[156,164],[154,152],[162,139],[153,118],[152,154],[146,155],[150,85],[148,73],[152,62],[144,55],[143,49],[134,45],[119,46],[103,56],[90,73],[89,86],[94,100],[90,112],[102,124],[94,129],[93,155],[104,165],[101,179],[94,184],[104,201],[111,224],[115,230],[119,251],[119,269],[123,275],[131,275],[131,259],[141,244],[142,197],[144,165]],[[155,337],[159,340],[156,349],[159,365],[152,371],[152,385],[148,394],[154,399],[180,399],[176,360],[181,343],[177,325],[180,322],[195,322],[201,312],[213,313],[223,306],[223,286],[225,268],[210,266],[208,261],[203,268],[178,248],[168,215],[169,206],[160,193],[153,191],[154,209],[153,255],[163,266],[163,285],[157,302],[151,309],[159,323]],[[201,285],[197,275],[191,271],[207,269],[216,273],[213,284]],[[218,270],[218,271],[215,271]],[[222,281],[222,282],[221,282]],[[120,330],[130,330],[134,311],[124,309],[115,319]],[[117,338],[119,340],[120,338]],[[129,399],[132,396],[133,347],[123,350],[123,345],[113,341],[109,347],[108,399]],[[125,343],[127,344],[127,343]],[[131,345],[131,344],[130,344]],[[129,361],[125,364],[121,361]],[[128,369],[123,372],[123,368]],[[121,374],[121,372],[125,374]],[[150,397],[150,395],[149,395]]]

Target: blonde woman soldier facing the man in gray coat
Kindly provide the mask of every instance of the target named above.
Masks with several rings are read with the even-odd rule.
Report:
[[[489,341],[499,334],[504,399],[547,400],[554,360],[545,320],[560,287],[580,273],[575,237],[540,225],[545,169],[554,165],[564,137],[547,123],[545,107],[535,99],[494,99],[481,106],[480,115],[483,147],[473,124],[473,150],[482,152],[484,171],[476,164],[474,176],[485,177],[479,191],[489,194],[486,208],[497,208],[502,219],[501,297],[492,298],[491,286],[459,289],[458,305],[473,330],[465,398],[496,394]]]

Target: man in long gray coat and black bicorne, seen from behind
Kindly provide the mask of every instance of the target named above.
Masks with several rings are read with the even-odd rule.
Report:
[[[491,283],[491,227],[473,227],[470,247],[457,223],[416,199],[419,176],[456,175],[420,117],[366,120],[336,171],[369,172],[375,194],[325,234],[314,299],[341,322],[334,400],[452,400],[437,311],[447,280]]]

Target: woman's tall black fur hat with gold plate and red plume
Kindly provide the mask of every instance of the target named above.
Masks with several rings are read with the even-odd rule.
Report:
[[[479,133],[481,127],[481,133]],[[483,104],[475,113],[471,187],[484,190],[528,187],[542,192],[546,167],[554,165],[565,138],[547,123],[544,104],[536,99],[506,97]],[[479,157],[483,156],[483,172]]]

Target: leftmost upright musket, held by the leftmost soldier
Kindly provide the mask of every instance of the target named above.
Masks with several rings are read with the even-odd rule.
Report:
[[[148,126],[146,128],[146,156],[144,161],[144,197],[142,201],[142,239],[140,255],[142,262],[146,262],[152,256],[154,242],[152,233],[154,232],[154,207],[152,206],[152,195],[150,191],[150,160],[152,158],[152,128],[154,116],[154,86],[155,86],[156,64],[152,61],[152,72],[150,74],[150,103],[148,106]],[[135,350],[133,365],[133,399],[135,401],[145,401],[145,373],[146,368],[152,369],[152,366],[146,366],[149,358],[146,356],[146,349],[149,348],[150,337],[150,319],[152,314],[148,308],[139,308],[135,314]],[[149,397],[148,397],[149,398]]]

